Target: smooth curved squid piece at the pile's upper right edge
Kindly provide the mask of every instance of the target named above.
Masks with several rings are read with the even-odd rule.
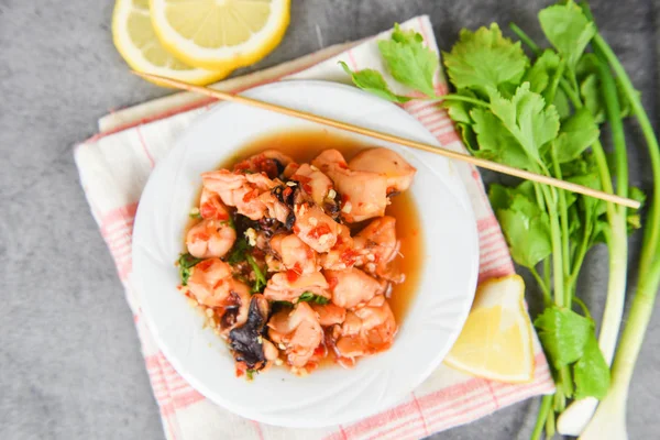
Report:
[[[349,162],[349,168],[384,174],[387,178],[387,195],[408,189],[417,173],[398,153],[388,148],[364,150]]]

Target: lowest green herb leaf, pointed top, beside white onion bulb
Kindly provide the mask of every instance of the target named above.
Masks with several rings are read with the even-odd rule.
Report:
[[[573,380],[575,381],[575,398],[595,397],[602,399],[609,388],[609,367],[598,348],[598,341],[592,330],[584,352],[573,365]]]

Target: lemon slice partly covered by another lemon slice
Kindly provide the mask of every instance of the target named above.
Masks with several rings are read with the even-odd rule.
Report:
[[[112,38],[121,56],[138,72],[197,85],[217,81],[231,73],[231,69],[211,72],[190,67],[170,55],[156,37],[148,0],[117,1],[112,15]]]

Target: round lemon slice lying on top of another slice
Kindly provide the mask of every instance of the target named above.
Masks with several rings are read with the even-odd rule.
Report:
[[[177,58],[208,69],[256,63],[282,41],[289,0],[150,0],[152,23]]]

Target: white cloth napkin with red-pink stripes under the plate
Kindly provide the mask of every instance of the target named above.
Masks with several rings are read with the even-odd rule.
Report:
[[[419,32],[428,47],[439,54],[428,16],[403,24]],[[355,70],[374,68],[384,73],[397,94],[409,94],[385,74],[376,38],[328,47],[260,73],[216,85],[240,91],[279,79],[314,78],[348,82],[337,65],[345,61]],[[436,78],[439,94],[447,92],[442,73]],[[178,135],[211,101],[190,94],[147,102],[111,113],[99,121],[100,133],[75,148],[80,182],[91,212],[99,224],[125,287],[134,315],[156,402],[168,440],[201,439],[418,439],[484,417],[498,408],[554,387],[546,358],[535,337],[535,380],[522,385],[490,382],[440,366],[397,406],[359,422],[323,429],[288,429],[258,424],[231,414],[196,392],[164,358],[142,319],[140,293],[131,280],[131,234],[135,208],[154,165],[175,144]],[[442,145],[464,151],[448,114],[438,106],[410,101],[404,108],[431,131]],[[479,172],[455,163],[472,199],[480,233],[480,282],[514,273],[502,231],[495,219]]]

